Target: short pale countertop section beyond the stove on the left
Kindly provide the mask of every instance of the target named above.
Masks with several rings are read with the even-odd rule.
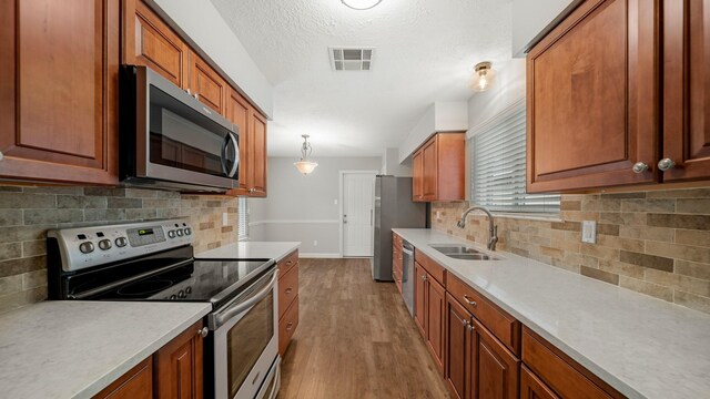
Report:
[[[239,242],[196,254],[197,259],[274,259],[276,262],[298,249],[301,243]]]

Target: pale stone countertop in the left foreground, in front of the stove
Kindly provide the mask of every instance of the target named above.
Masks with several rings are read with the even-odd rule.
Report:
[[[211,309],[209,303],[48,300],[3,314],[0,397],[90,398]]]

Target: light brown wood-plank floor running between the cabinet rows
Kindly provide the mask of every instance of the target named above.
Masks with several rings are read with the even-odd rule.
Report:
[[[448,398],[393,283],[369,259],[301,259],[300,325],[280,399]]]

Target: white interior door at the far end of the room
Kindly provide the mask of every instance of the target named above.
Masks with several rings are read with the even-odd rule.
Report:
[[[374,172],[343,173],[343,256],[373,256]]]

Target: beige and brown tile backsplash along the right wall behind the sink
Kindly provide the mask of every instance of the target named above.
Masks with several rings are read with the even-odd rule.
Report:
[[[467,206],[432,204],[432,227],[485,245],[485,215],[456,227]],[[561,222],[496,218],[498,248],[710,314],[710,188],[562,195],[560,208]]]

